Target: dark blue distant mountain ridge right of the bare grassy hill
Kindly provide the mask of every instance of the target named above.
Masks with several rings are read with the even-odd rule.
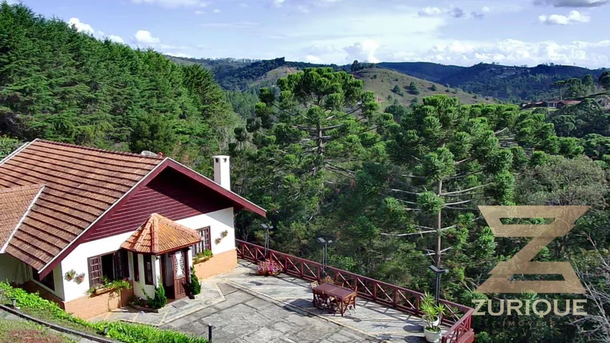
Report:
[[[423,62],[384,62],[377,66],[512,102],[558,97],[559,90],[553,86],[553,82],[570,78],[583,79],[586,74],[591,74],[597,80],[604,71],[568,65],[517,67],[485,63],[456,67]]]

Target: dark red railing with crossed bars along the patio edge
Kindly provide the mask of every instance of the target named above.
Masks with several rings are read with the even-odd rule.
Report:
[[[239,240],[236,240],[236,245],[237,255],[243,260],[257,262],[265,255],[265,248],[262,246]],[[323,267],[318,262],[280,253],[276,250],[269,250],[269,258],[280,263],[286,274],[309,281],[318,281],[323,277]],[[350,288],[355,288],[358,297],[400,309],[408,314],[422,315],[419,302],[423,294],[420,292],[333,267],[327,267],[326,271],[334,280],[343,282]],[[445,304],[447,308],[447,314],[443,316],[442,323],[451,327],[442,336],[442,343],[473,342],[474,332],[471,324],[475,310],[447,300],[440,300],[440,302]]]

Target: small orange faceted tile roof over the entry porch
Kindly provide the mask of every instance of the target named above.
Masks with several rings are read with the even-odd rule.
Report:
[[[172,250],[192,246],[201,241],[197,231],[172,222],[162,215],[153,213],[131,235],[121,248],[144,254],[163,254]]]

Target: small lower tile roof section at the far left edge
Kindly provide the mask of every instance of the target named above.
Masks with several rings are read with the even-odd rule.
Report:
[[[25,219],[28,209],[43,189],[41,184],[32,186],[0,189],[0,253],[4,252],[6,242]]]

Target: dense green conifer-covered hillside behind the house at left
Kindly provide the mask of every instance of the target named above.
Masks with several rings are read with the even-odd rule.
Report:
[[[218,151],[239,123],[199,65],[97,40],[21,5],[0,4],[0,37],[0,135],[190,163]]]

